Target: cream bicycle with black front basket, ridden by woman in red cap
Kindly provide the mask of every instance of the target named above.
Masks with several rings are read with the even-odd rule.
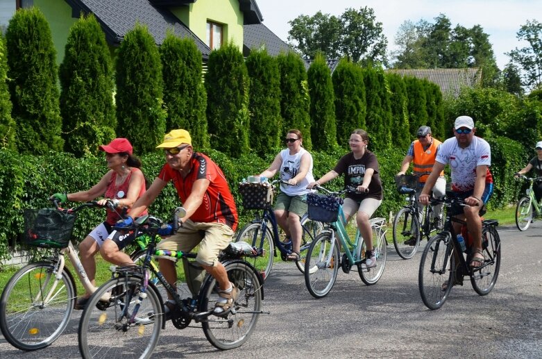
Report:
[[[48,347],[69,322],[77,293],[74,276],[65,267],[65,256],[74,265],[85,290],[96,290],[71,243],[71,232],[77,212],[101,206],[92,201],[62,209],[58,201],[53,203],[56,208],[24,211],[24,242],[30,247],[50,249],[51,255],[19,269],[0,298],[2,334],[13,347],[24,351]]]

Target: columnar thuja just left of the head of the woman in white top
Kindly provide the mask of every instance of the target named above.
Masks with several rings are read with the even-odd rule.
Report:
[[[251,150],[264,157],[270,149],[279,146],[282,138],[280,136],[286,135],[277,131],[282,128],[278,65],[276,59],[269,56],[266,50],[251,51],[246,58],[246,69],[251,81],[251,92],[248,96]]]

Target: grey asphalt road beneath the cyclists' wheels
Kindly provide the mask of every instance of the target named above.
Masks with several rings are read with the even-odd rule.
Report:
[[[246,344],[217,351],[201,328],[167,324],[153,358],[541,358],[542,222],[499,233],[500,274],[485,297],[467,280],[441,309],[427,309],[418,292],[420,253],[402,260],[393,245],[377,284],[339,271],[323,299],[307,292],[294,264],[278,263],[265,283],[264,310],[271,314],[260,316]],[[40,351],[19,351],[0,336],[0,358],[78,358],[79,315]]]

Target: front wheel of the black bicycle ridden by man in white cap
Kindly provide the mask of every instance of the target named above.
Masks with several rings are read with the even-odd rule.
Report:
[[[423,250],[418,271],[418,289],[423,303],[439,309],[448,299],[454,278],[455,257],[446,235],[435,235]]]

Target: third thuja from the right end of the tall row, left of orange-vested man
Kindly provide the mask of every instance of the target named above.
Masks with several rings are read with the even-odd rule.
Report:
[[[391,104],[391,137],[393,147],[406,149],[409,147],[412,138],[416,136],[416,129],[410,128],[408,121],[408,94],[407,85],[403,77],[398,74],[387,74]]]

